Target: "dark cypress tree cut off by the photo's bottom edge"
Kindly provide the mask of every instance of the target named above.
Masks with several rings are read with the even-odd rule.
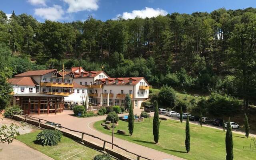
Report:
[[[228,118],[227,131],[226,131],[226,160],[233,160],[233,137],[230,118]]]

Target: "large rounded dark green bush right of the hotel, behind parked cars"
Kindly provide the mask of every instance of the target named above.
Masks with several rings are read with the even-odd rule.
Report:
[[[164,85],[160,88],[158,99],[164,106],[175,106],[176,92],[172,87]]]

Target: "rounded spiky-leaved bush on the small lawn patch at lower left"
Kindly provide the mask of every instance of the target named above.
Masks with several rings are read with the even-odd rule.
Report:
[[[60,142],[62,132],[59,130],[43,130],[36,136],[36,143],[43,146],[55,146]]]

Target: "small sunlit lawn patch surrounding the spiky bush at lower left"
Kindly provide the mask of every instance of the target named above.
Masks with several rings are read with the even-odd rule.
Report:
[[[94,156],[96,156],[97,154],[101,154],[100,152],[88,148],[82,144],[79,144],[78,142],[75,142],[74,140],[65,136],[62,137],[62,141],[59,142],[57,146],[42,146],[39,144],[35,144],[34,140],[36,139],[36,135],[40,131],[41,130],[37,130],[36,132],[23,134],[17,136],[16,138],[27,146],[38,150],[39,152],[42,152],[43,154],[46,154],[47,156],[55,160],[65,160],[66,158],[71,157],[75,154],[77,155],[68,158],[68,160],[93,160]],[[79,152],[81,153],[78,154]]]

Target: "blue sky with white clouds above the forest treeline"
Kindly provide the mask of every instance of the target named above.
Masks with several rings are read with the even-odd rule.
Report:
[[[122,16],[154,17],[179,12],[212,12],[218,8],[256,8],[255,0],[4,0],[0,10],[11,14],[27,13],[40,22],[45,19],[72,22],[86,20],[88,15],[108,20]]]

